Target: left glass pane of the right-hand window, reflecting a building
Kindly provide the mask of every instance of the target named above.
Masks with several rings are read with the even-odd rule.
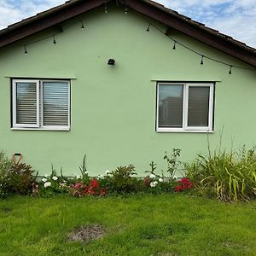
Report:
[[[159,85],[159,127],[183,127],[183,85]]]

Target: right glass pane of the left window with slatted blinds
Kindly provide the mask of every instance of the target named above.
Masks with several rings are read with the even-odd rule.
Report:
[[[44,82],[44,125],[68,126],[68,87],[67,82]]]

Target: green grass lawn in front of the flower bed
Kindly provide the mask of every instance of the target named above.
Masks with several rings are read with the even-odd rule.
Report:
[[[68,241],[102,224],[105,236]],[[256,255],[256,201],[189,195],[0,200],[0,255]]]

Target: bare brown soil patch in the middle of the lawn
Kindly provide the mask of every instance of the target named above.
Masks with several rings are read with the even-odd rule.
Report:
[[[90,224],[82,226],[68,234],[69,241],[82,241],[87,243],[96,240],[105,235],[105,230],[100,224]]]

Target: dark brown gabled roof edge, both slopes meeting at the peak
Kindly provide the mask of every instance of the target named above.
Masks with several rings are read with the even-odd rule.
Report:
[[[150,0],[70,0],[1,30],[0,48],[44,31],[51,26],[60,26],[65,20],[101,6],[103,8],[110,2],[123,4],[171,29],[183,32],[191,38],[256,67],[256,49]]]

